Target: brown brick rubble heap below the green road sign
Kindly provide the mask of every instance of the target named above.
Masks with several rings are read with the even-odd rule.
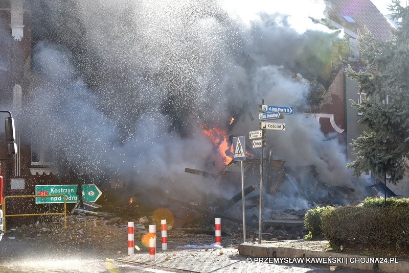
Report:
[[[148,217],[139,219],[124,219],[115,213],[96,211],[100,205],[83,202],[81,206],[78,202],[71,215],[67,216],[66,228],[62,217],[49,217],[48,221],[30,225],[21,225],[15,229],[15,235],[23,240],[36,242],[52,241],[58,244],[70,246],[79,245],[101,245],[104,249],[123,249],[127,244],[127,224],[128,220],[134,222],[135,238],[142,237],[147,232],[149,225]],[[127,206],[126,209],[129,209]],[[53,221],[51,220],[53,219]]]

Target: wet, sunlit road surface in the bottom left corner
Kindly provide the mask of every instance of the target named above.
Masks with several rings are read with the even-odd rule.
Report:
[[[37,243],[19,239],[8,239],[5,236],[0,241],[0,272],[4,273],[127,273],[127,272],[180,272],[180,270],[152,270],[151,266],[132,265],[119,261],[106,262],[106,258],[122,257],[102,250],[74,249]]]

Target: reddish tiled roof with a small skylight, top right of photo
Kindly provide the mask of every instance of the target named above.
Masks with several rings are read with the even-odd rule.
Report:
[[[370,0],[325,0],[325,3],[326,16],[346,29],[354,33],[359,29],[365,33],[363,26],[366,25],[375,38],[391,39],[391,24]],[[355,23],[348,22],[343,16],[350,16]]]

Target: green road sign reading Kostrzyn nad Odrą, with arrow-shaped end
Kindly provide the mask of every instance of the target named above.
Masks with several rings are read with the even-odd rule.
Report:
[[[78,201],[77,185],[36,185],[36,195],[54,195],[65,194],[67,203],[76,203]],[[82,200],[95,202],[102,195],[102,191],[94,184],[82,185]],[[46,203],[64,203],[63,196],[54,197],[35,197],[36,204]]]

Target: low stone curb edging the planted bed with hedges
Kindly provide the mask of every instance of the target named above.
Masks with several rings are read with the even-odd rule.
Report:
[[[316,251],[316,250],[303,250],[293,247],[275,246],[271,243],[255,244],[255,243],[242,243],[239,245],[239,254],[243,256],[253,258],[329,258],[333,260],[339,258],[343,263],[321,263],[326,265],[333,265],[339,267],[347,267],[361,270],[378,270],[386,273],[400,273],[409,272],[409,260],[396,259],[396,261],[390,261],[388,263],[377,260],[383,260],[384,258],[376,258],[361,255],[352,255],[345,253],[335,253],[328,251]],[[375,260],[375,262],[373,262]],[[385,259],[386,260],[386,259]],[[309,259],[308,263],[320,263],[314,262],[315,259]],[[352,262],[351,262],[352,261]],[[361,262],[363,261],[363,262]]]

